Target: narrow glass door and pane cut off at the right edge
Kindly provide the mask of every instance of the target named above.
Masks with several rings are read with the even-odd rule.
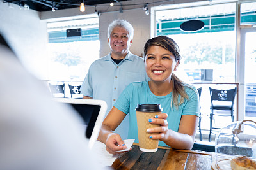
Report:
[[[241,82],[241,89],[245,93],[244,119],[256,120],[256,78],[252,71],[256,67],[256,2],[241,3],[241,60],[239,65],[244,67],[240,71],[244,79]],[[243,97],[243,96],[242,96]]]

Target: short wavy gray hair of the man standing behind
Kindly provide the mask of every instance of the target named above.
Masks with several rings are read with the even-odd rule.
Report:
[[[122,27],[122,28],[126,29],[129,34],[129,38],[133,39],[134,29],[133,29],[132,25],[129,22],[127,22],[126,20],[114,20],[113,22],[111,22],[111,24],[109,24],[109,26],[108,26],[108,38],[110,38],[111,32],[113,31],[113,29],[115,27]]]

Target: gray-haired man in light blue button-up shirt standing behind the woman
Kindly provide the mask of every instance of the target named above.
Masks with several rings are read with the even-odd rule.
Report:
[[[84,99],[106,101],[107,114],[129,83],[149,80],[143,58],[129,51],[133,32],[132,25],[125,20],[115,20],[109,25],[108,43],[111,52],[92,63],[80,89]],[[115,132],[126,139],[128,129],[129,115]]]

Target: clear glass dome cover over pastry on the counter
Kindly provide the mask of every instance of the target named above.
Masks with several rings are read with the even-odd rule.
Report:
[[[246,156],[256,160],[256,122],[232,122],[218,132],[215,139],[216,160],[213,169],[231,169],[230,161]]]

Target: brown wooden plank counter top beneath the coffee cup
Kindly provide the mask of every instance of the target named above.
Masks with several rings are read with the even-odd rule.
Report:
[[[215,153],[192,150],[173,150],[159,146],[157,152],[142,152],[138,144],[113,162],[113,169],[211,169]]]

